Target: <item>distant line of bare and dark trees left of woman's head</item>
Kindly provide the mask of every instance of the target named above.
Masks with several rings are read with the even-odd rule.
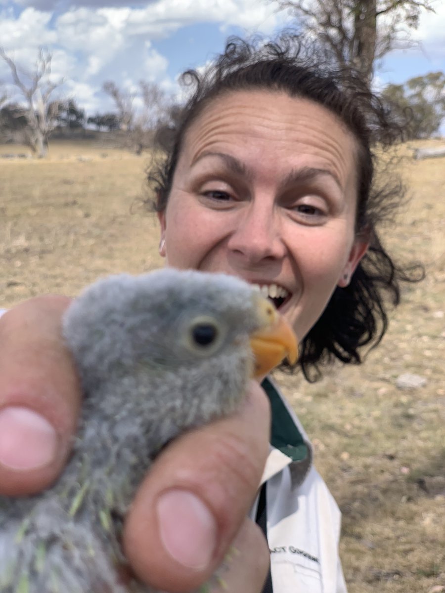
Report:
[[[45,157],[54,133],[66,135],[86,128],[114,132],[116,145],[141,154],[152,148],[157,130],[168,129],[180,111],[155,82],[140,81],[135,90],[127,91],[107,81],[103,91],[116,111],[87,117],[75,98],[55,98],[63,81],[51,79],[50,52],[39,49],[32,69],[18,65],[2,47],[0,59],[12,78],[9,87],[0,82],[0,141],[26,144],[37,157]]]

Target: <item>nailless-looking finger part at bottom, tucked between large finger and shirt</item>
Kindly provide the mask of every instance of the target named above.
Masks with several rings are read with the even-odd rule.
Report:
[[[210,580],[209,593],[260,593],[270,559],[264,534],[253,521],[244,519],[221,567]]]

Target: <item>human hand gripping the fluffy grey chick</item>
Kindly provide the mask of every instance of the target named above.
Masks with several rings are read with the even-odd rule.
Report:
[[[81,395],[61,338],[68,304],[64,297],[40,297],[0,319],[0,493],[49,486],[69,455]],[[246,514],[267,455],[268,428],[268,401],[252,382],[236,415],[181,436],[158,457],[136,495],[123,541],[142,581],[190,591],[210,579],[233,547],[221,572],[228,590],[261,591],[269,552]]]

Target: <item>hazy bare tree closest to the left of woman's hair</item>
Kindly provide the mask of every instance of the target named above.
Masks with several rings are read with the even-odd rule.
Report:
[[[151,148],[155,131],[169,118],[171,98],[158,84],[147,81],[140,81],[134,93],[112,81],[105,82],[103,90],[115,102],[120,130],[125,132],[124,144],[136,154]]]

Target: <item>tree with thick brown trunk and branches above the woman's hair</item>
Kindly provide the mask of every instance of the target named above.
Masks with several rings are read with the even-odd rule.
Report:
[[[375,60],[392,49],[412,46],[422,10],[430,0],[272,0],[288,9],[302,31],[316,37],[339,66],[352,65],[368,81]]]

